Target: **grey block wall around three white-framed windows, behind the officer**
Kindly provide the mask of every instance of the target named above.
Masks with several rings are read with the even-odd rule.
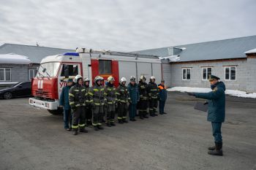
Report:
[[[202,68],[212,67],[212,74],[225,82],[226,88],[246,91],[247,61],[208,61],[195,63],[171,63],[170,85],[194,88],[209,88],[208,80],[203,80]],[[236,66],[236,80],[225,80],[225,66]],[[191,80],[182,80],[182,68],[191,68]]]

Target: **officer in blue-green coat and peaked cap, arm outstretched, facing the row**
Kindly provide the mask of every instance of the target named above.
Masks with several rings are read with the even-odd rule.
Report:
[[[219,81],[219,77],[209,77],[212,91],[209,93],[188,93],[189,96],[208,99],[208,117],[211,122],[214,136],[214,147],[208,147],[209,155],[222,156],[222,123],[225,121],[225,84]]]

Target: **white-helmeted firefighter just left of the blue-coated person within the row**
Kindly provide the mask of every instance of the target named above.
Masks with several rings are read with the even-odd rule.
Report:
[[[118,98],[118,123],[128,123],[127,121],[127,109],[128,102],[130,101],[129,92],[127,86],[127,79],[122,77],[119,86],[116,89],[116,94]]]

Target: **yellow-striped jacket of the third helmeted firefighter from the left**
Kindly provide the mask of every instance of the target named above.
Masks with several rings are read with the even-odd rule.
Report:
[[[102,85],[95,85],[89,90],[89,102],[93,107],[103,106],[105,103],[104,87]]]

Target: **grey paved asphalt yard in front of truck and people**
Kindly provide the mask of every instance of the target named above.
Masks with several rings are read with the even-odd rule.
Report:
[[[168,93],[167,115],[73,136],[61,115],[0,100],[0,169],[256,169],[256,100],[227,96],[224,156],[206,112],[186,93]]]

